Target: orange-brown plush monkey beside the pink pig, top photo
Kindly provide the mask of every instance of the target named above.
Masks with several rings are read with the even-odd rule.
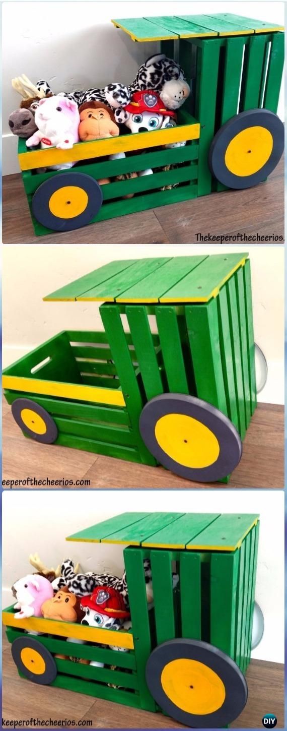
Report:
[[[120,134],[114,113],[102,102],[85,102],[79,107],[79,114],[79,137],[84,142],[118,137]]]

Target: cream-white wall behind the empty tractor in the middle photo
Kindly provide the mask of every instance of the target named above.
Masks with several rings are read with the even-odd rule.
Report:
[[[102,330],[98,303],[48,303],[42,298],[69,281],[118,259],[175,257],[248,251],[237,246],[79,246],[20,244],[3,247],[4,367],[60,330]],[[267,358],[269,376],[259,399],[284,401],[284,250],[250,246],[255,340]],[[23,276],[25,272],[25,276]]]

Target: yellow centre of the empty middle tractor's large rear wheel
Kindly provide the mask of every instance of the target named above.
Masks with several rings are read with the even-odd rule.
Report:
[[[155,436],[161,449],[185,467],[200,469],[218,459],[218,439],[194,417],[165,414],[156,422]]]

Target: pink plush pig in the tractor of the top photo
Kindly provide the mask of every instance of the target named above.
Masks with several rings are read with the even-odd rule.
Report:
[[[79,142],[80,115],[77,103],[67,96],[50,96],[41,99],[35,111],[37,132],[26,140],[27,147],[41,144],[41,148],[56,147],[69,150]],[[74,163],[66,162],[51,166],[52,170],[66,170]]]

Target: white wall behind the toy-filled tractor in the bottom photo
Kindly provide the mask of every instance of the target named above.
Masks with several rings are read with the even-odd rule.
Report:
[[[113,500],[115,498],[115,500]],[[30,571],[28,556],[39,553],[49,567],[64,558],[84,571],[122,575],[121,545],[66,543],[65,537],[120,512],[249,512],[260,514],[256,601],[264,614],[264,636],[253,657],[284,660],[284,493],[263,490],[204,491],[13,491],[3,499],[3,606],[10,586]],[[112,509],[110,504],[115,504]]]

